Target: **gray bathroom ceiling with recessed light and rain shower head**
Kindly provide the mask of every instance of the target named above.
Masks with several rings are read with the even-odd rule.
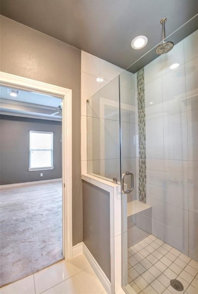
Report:
[[[197,13],[198,0],[1,0],[2,15],[122,68],[161,41],[162,17],[167,17],[168,36]],[[198,18],[174,42],[196,29]],[[138,35],[147,36],[148,44],[134,50],[131,40]],[[155,57],[150,53],[143,66]]]

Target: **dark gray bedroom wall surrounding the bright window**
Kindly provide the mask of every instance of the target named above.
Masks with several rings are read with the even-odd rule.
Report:
[[[0,115],[0,185],[62,178],[61,125],[60,121]],[[54,169],[28,170],[29,130],[54,132]]]

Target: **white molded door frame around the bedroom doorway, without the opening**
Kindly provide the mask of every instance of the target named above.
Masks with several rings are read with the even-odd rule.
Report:
[[[72,258],[72,90],[6,72],[0,72],[0,84],[32,89],[62,98],[62,231],[63,257]]]

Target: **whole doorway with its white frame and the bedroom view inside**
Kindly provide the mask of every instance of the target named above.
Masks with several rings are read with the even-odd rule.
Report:
[[[0,286],[72,257],[71,90],[2,76]]]

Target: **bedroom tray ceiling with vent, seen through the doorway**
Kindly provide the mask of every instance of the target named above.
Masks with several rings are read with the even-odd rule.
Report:
[[[7,89],[19,90],[19,94],[13,97]],[[61,102],[60,98],[42,93],[0,86],[0,114],[61,121],[62,114],[58,111]]]

